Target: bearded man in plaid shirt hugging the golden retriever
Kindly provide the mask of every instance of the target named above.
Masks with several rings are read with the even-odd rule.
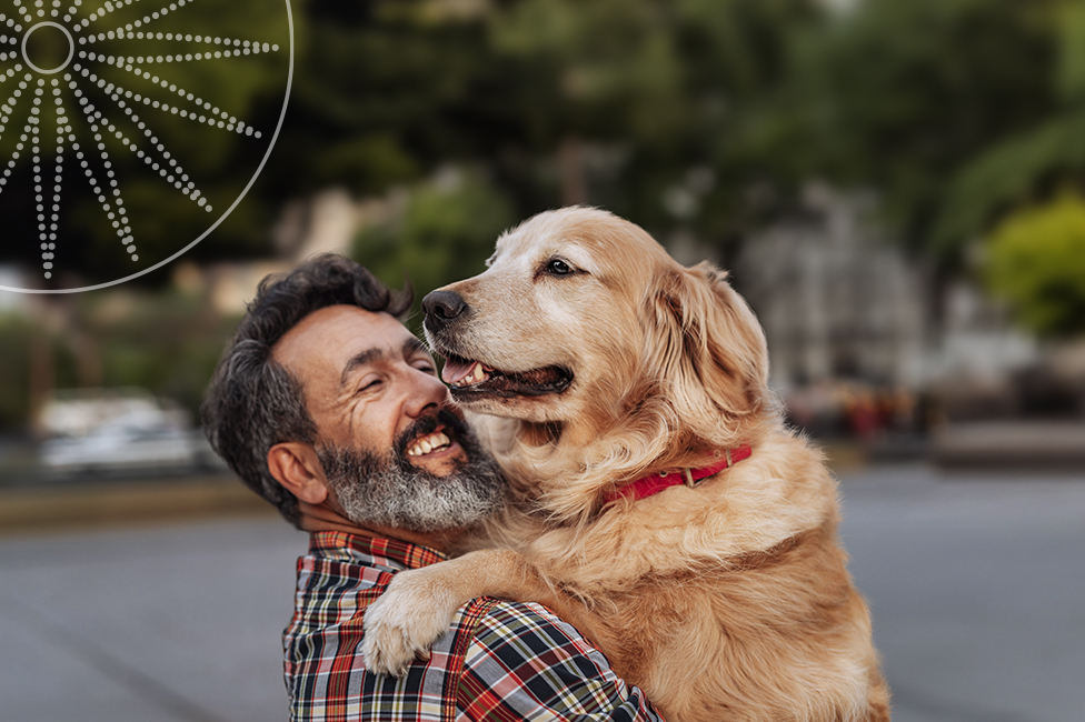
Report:
[[[208,390],[215,449],[311,534],[283,633],[291,720],[658,719],[538,604],[474,600],[402,679],[366,671],[366,606],[396,572],[444,559],[505,494],[398,320],[410,302],[336,255],[265,279]]]

